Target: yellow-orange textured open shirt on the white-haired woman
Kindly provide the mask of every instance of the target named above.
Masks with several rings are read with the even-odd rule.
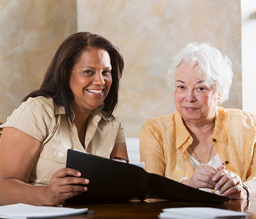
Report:
[[[187,148],[193,138],[178,112],[151,118],[141,128],[140,157],[145,170],[172,180],[191,177]],[[256,180],[256,116],[217,107],[211,144],[226,169],[242,181]]]

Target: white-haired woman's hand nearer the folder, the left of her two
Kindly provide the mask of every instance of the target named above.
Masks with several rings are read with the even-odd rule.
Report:
[[[217,168],[207,165],[200,164],[196,169],[193,175],[184,180],[184,184],[194,187],[196,189],[207,188],[214,189],[216,185],[216,181],[213,181],[212,178],[218,172]]]

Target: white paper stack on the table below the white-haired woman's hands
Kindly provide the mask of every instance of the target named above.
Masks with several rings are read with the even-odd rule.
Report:
[[[158,217],[166,219],[246,219],[250,214],[219,208],[165,208]]]

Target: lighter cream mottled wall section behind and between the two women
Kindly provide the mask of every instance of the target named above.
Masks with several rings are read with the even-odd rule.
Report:
[[[191,41],[210,41],[233,62],[234,80],[224,107],[242,107],[240,0],[77,0],[78,31],[102,34],[125,59],[115,115],[127,137],[143,122],[175,111],[165,75],[171,57]]]

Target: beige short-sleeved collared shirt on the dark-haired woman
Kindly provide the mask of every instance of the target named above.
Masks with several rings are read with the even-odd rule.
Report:
[[[33,185],[50,184],[52,175],[65,167],[69,148],[110,158],[115,143],[126,142],[119,118],[108,118],[96,108],[88,118],[84,149],[76,126],[67,122],[64,107],[41,96],[23,102],[0,127],[14,127],[42,142],[30,175]]]

